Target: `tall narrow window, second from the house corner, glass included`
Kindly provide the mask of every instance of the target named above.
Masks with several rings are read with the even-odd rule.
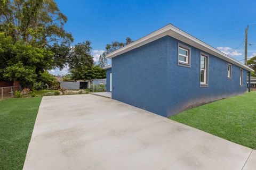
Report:
[[[208,55],[202,53],[200,57],[200,86],[208,86]]]

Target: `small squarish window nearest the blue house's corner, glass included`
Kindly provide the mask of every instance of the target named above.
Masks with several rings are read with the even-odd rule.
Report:
[[[178,43],[178,65],[190,67],[191,48]]]

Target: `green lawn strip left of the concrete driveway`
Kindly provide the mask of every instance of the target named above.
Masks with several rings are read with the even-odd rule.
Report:
[[[41,99],[0,101],[0,169],[22,169]]]

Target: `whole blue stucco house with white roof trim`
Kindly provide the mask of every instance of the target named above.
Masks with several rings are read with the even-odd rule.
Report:
[[[243,94],[253,71],[172,24],[107,58],[112,98],[162,116]]]

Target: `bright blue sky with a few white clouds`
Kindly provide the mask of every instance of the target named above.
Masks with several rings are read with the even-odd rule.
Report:
[[[68,22],[65,29],[73,45],[89,40],[98,62],[106,44],[137,40],[171,23],[238,61],[244,58],[247,24],[248,57],[256,55],[256,1],[164,1],[164,0],[55,0]],[[111,61],[108,61],[111,64]],[[52,74],[66,74],[51,70]]]

